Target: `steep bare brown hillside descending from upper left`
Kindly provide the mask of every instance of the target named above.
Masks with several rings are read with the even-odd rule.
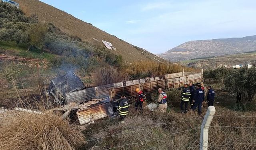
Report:
[[[113,35],[110,35],[90,23],[75,18],[74,16],[54,8],[48,4],[40,2],[39,0],[15,0],[22,8],[25,8],[26,15],[36,14],[40,22],[50,22],[63,32],[70,35],[78,36],[83,41],[87,41],[93,45],[104,46],[101,42],[105,40],[111,42],[116,48],[112,52],[116,55],[122,55],[125,62],[134,62],[136,60],[161,60],[154,54],[133,46]],[[93,38],[97,39],[94,40]]]

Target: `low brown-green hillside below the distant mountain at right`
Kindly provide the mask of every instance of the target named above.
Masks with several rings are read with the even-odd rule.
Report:
[[[240,54],[227,54],[222,56],[217,56],[214,58],[207,59],[195,59],[195,60],[184,60],[180,64],[186,66],[195,66],[197,68],[202,68],[204,62],[204,68],[216,68],[221,66],[232,67],[236,64],[255,64],[256,63],[256,52],[247,52]]]

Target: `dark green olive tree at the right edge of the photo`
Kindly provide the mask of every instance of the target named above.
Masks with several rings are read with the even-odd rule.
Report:
[[[256,94],[256,67],[232,70],[225,78],[224,85],[232,94],[242,93],[239,104],[245,106]]]

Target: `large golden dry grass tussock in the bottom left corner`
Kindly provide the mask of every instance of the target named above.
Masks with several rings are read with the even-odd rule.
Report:
[[[83,134],[53,114],[15,113],[0,126],[0,150],[74,150],[85,143]]]

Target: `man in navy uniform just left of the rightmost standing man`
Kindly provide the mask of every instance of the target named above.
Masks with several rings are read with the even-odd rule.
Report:
[[[192,110],[194,111],[196,109],[196,107],[198,107],[198,115],[202,114],[202,103],[204,101],[204,90],[201,89],[201,86],[198,85],[198,89],[195,92],[194,95],[194,105]]]

